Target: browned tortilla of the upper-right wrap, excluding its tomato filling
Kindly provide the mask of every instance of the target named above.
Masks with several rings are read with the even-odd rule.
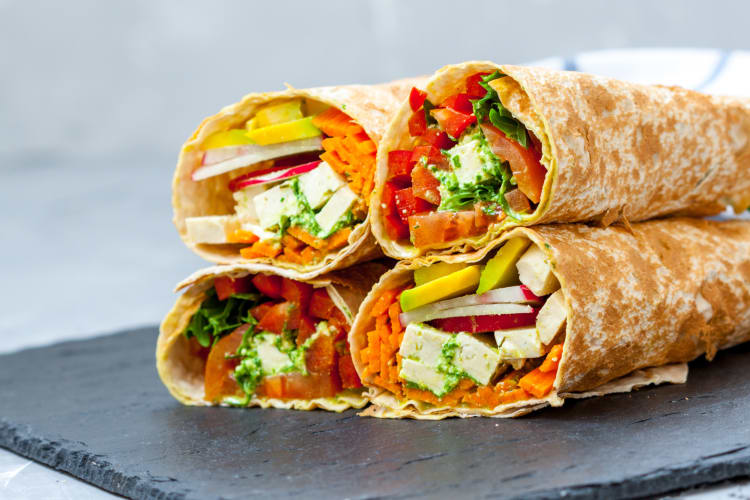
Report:
[[[420,250],[408,240],[390,239],[382,207],[371,202],[373,233],[388,256],[471,251],[515,226],[580,221],[607,226],[750,205],[750,100],[491,62],[442,68],[424,87],[427,98],[439,104],[461,92],[467,77],[495,70],[508,77],[490,86],[542,144],[547,174],[538,205],[478,236]],[[404,103],[383,136],[373,200],[382,197],[388,152],[415,145],[411,115]]]

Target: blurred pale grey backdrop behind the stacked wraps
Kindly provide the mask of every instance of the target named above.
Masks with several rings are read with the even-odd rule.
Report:
[[[171,225],[177,151],[253,90],[465,59],[750,49],[732,1],[0,0],[0,350],[157,322],[203,263]]]

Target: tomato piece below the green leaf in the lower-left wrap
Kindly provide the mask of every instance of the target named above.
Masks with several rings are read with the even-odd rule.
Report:
[[[242,343],[242,336],[250,325],[242,325],[232,333],[222,337],[211,348],[206,359],[204,372],[204,393],[206,401],[219,402],[224,396],[240,396],[242,389],[234,380],[234,369],[239,359],[227,359],[235,354]]]

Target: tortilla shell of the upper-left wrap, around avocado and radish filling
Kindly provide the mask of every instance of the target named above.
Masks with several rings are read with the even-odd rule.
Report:
[[[361,125],[370,138],[378,144],[388,120],[396,112],[412,86],[422,85],[426,78],[398,80],[381,85],[347,85],[294,89],[279,92],[249,94],[240,102],[227,106],[214,116],[208,117],[182,146],[172,181],[172,206],[174,224],[185,244],[201,257],[215,264],[238,262],[263,263],[274,268],[295,272],[299,279],[351,266],[357,262],[382,256],[375,238],[370,233],[370,217],[357,225],[349,236],[348,244],[336,253],[326,255],[314,265],[300,265],[276,259],[247,260],[240,256],[238,245],[197,244],[190,241],[185,219],[204,215],[234,213],[234,199],[227,183],[238,173],[266,168],[271,162],[261,162],[243,170],[235,170],[202,181],[193,181],[192,172],[200,165],[203,152],[201,143],[211,134],[230,128],[242,127],[258,107],[272,101],[291,98],[308,98],[333,106],[349,115]]]

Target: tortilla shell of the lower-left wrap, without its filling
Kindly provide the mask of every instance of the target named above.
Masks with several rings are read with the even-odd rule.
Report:
[[[368,262],[343,271],[334,271],[324,276],[305,280],[316,288],[325,287],[331,300],[344,313],[351,324],[370,287],[388,269],[382,262]],[[232,278],[248,274],[276,274],[297,279],[291,270],[269,272],[265,266],[237,264],[214,266],[200,270],[177,285],[177,290],[185,289],[177,298],[172,310],[161,323],[156,344],[156,368],[164,385],[180,403],[186,405],[209,406],[204,399],[205,359],[198,355],[201,350],[195,339],[188,339],[183,332],[191,318],[205,299],[205,292],[220,276]],[[280,400],[253,396],[248,406],[263,408],[293,408],[312,410],[322,408],[330,411],[343,411],[347,408],[362,408],[367,403],[366,395],[357,391],[343,391],[331,398],[312,400]]]

